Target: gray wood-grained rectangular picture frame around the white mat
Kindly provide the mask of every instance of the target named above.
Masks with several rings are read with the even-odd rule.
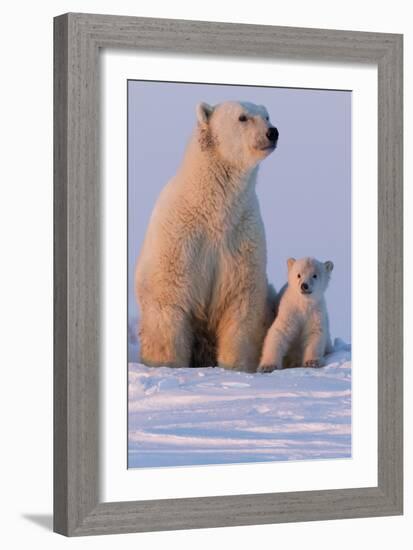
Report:
[[[66,14],[54,20],[54,44],[54,530],[73,536],[401,514],[402,36]],[[100,501],[98,59],[104,47],[378,66],[377,487]]]

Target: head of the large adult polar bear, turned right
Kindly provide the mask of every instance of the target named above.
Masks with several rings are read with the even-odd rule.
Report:
[[[277,146],[278,130],[263,105],[226,101],[211,107],[199,103],[197,119],[201,149],[214,149],[232,166],[252,168]]]

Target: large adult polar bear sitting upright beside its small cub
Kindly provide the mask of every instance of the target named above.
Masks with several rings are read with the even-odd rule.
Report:
[[[141,361],[255,371],[272,322],[255,183],[278,130],[246,102],[200,103],[197,119],[136,267]]]

